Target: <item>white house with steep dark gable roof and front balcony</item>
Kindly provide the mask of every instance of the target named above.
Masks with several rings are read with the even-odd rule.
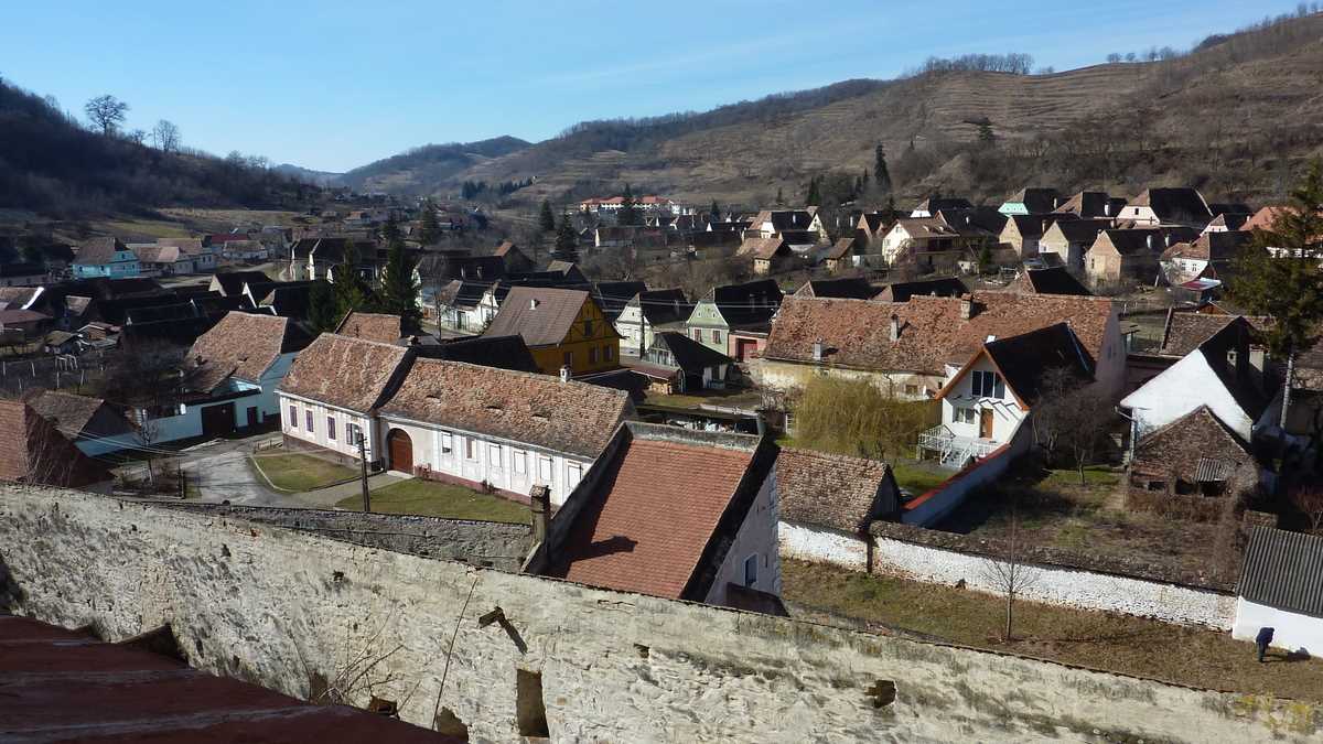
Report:
[[[982,458],[1019,433],[1043,396],[1053,369],[1064,369],[1078,384],[1093,381],[1091,360],[1065,322],[1013,336],[987,336],[963,365],[949,365],[937,393],[942,422],[919,436],[919,449],[959,469]]]

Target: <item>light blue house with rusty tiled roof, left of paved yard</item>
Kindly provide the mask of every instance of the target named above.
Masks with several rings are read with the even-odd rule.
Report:
[[[179,400],[139,408],[147,443],[255,430],[279,416],[277,385],[307,334],[288,318],[232,311],[193,342]]]

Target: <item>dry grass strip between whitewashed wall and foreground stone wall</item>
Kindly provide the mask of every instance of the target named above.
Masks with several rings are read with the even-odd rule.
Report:
[[[1005,601],[992,594],[782,560],[782,594],[796,605],[949,642],[1238,692],[1323,700],[1323,661],[1258,663],[1229,633],[1154,620],[1016,602],[1016,641],[1000,639]],[[791,614],[795,614],[794,612]]]

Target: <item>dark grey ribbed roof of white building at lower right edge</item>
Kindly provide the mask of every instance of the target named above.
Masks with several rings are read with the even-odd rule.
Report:
[[[1245,600],[1323,618],[1323,537],[1256,527],[1238,593]]]

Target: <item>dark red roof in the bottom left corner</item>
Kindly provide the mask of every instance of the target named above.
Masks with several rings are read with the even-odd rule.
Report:
[[[455,741],[28,617],[0,616],[0,679],[7,741]]]

